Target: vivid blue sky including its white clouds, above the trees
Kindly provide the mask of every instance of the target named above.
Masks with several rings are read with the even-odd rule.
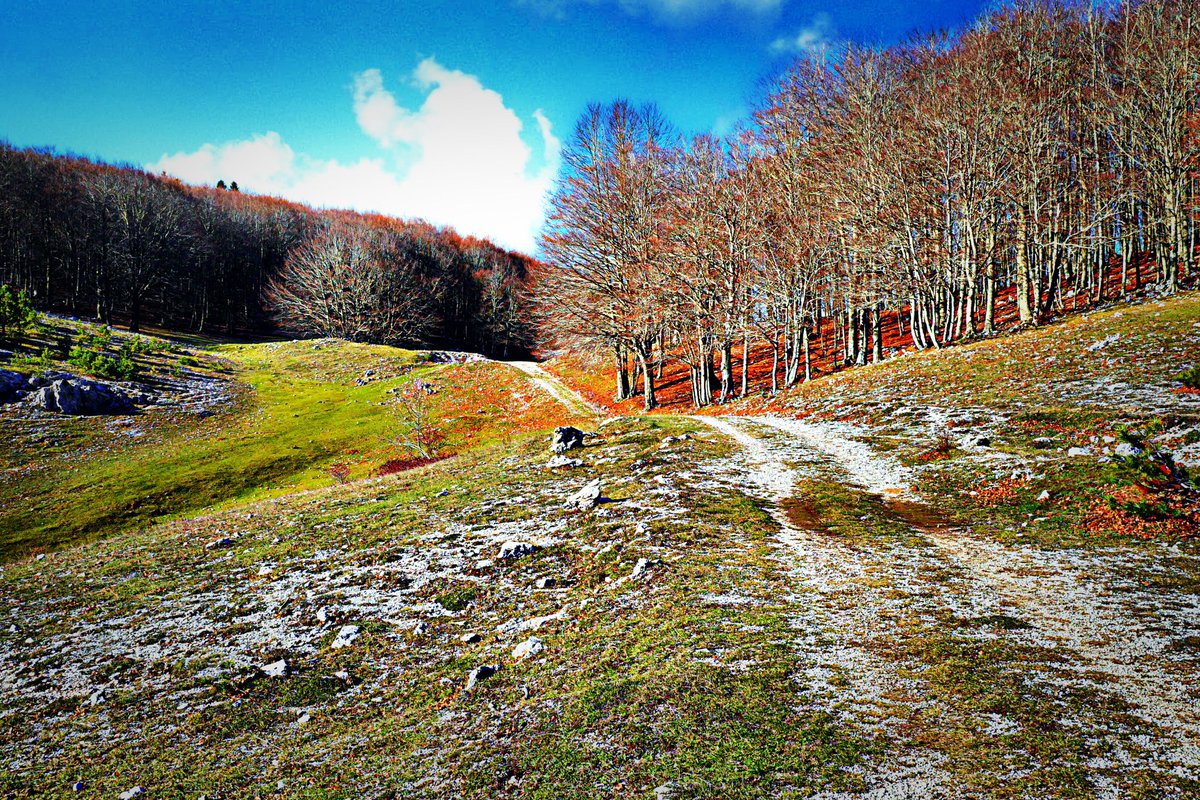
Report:
[[[590,101],[724,132],[805,49],[979,0],[6,0],[0,138],[532,251]]]

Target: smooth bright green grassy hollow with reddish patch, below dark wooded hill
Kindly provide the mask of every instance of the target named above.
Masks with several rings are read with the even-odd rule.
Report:
[[[442,455],[562,417],[552,399],[492,362],[430,365],[418,353],[346,342],[227,344],[184,357],[230,383],[233,399],[211,416],[152,409],[115,426],[13,423],[18,440],[0,482],[5,558],[361,479],[409,458],[389,392],[415,378],[437,389],[428,405]]]

